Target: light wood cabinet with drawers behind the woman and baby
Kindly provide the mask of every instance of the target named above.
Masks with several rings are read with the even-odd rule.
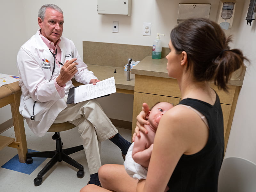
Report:
[[[240,86],[229,85],[228,92],[218,90],[214,84],[211,87],[220,97],[226,150]],[[149,107],[158,101],[167,101],[176,105],[180,99],[181,93],[176,79],[135,74],[132,134],[136,127],[136,116],[140,113],[143,102],[148,103]]]

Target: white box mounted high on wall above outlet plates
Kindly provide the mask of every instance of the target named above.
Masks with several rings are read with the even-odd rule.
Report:
[[[98,0],[98,14],[131,16],[132,0]]]

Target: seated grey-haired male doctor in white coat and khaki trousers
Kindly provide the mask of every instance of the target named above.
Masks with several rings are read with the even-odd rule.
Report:
[[[88,183],[100,185],[100,142],[110,139],[122,155],[126,155],[131,143],[118,133],[96,100],[66,104],[73,77],[83,84],[95,85],[99,80],[87,69],[74,43],[62,37],[64,19],[60,7],[43,5],[37,20],[40,29],[20,47],[17,56],[20,114],[40,137],[53,123],[68,121],[78,126],[91,174]]]

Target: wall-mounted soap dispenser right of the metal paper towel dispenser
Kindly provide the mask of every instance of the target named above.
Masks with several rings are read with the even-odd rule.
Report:
[[[236,9],[236,1],[221,0],[219,3],[216,22],[223,29],[230,29],[233,24],[234,14]]]

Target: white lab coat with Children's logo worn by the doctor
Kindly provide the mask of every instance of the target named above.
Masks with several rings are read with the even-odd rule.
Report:
[[[91,79],[97,79],[87,65],[81,60],[74,43],[61,37],[59,47],[61,49],[61,63],[70,60],[72,55],[77,58],[78,72],[75,75],[76,81],[88,84]],[[48,131],[59,112],[67,107],[63,100],[68,90],[73,87],[72,81],[61,88],[60,94],[54,85],[54,79],[59,75],[60,68],[56,63],[52,75],[54,58],[49,48],[39,36],[39,31],[23,44],[17,55],[17,67],[19,70],[22,90],[20,98],[20,114],[26,118],[29,128],[37,136],[44,136]],[[51,78],[52,76],[52,78]],[[51,79],[51,80],[50,80]],[[34,115],[36,120],[30,120],[33,104],[35,103]]]

